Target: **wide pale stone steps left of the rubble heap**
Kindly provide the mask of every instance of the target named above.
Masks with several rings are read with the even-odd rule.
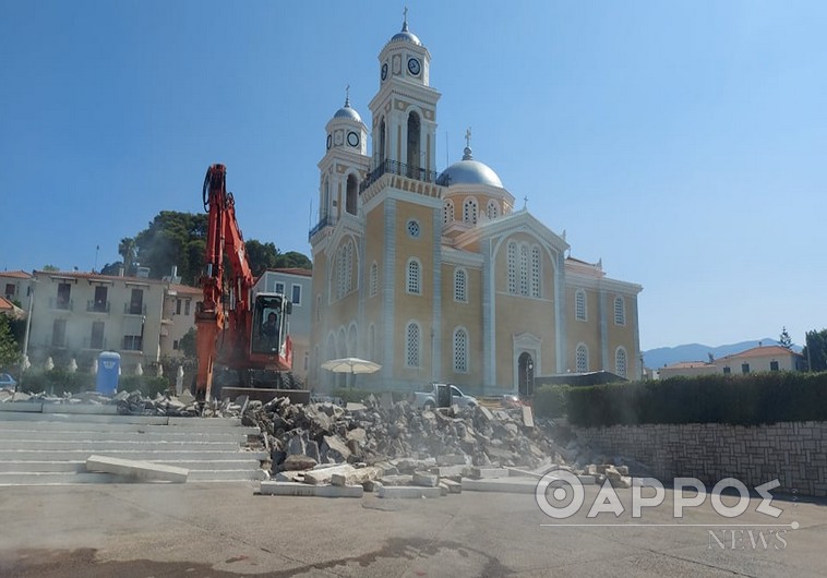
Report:
[[[94,407],[60,413],[46,405],[41,412],[17,412],[9,406],[0,404],[0,486],[134,482],[86,471],[93,455],[184,468],[188,481],[267,478],[261,461],[269,455],[244,448],[259,429],[240,419],[100,414]]]

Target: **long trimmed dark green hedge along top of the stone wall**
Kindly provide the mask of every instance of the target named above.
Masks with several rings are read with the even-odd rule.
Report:
[[[827,421],[827,373],[672,377],[574,387],[564,397],[568,421],[583,426]]]

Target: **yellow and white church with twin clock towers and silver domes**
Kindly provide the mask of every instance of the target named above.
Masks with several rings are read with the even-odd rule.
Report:
[[[639,285],[570,256],[558,234],[474,158],[436,171],[431,55],[408,29],[379,56],[370,125],[349,99],[326,125],[313,255],[311,387],[358,357],[382,369],[358,387],[454,383],[474,394],[530,394],[534,377],[642,375]],[[371,148],[368,148],[370,139]]]

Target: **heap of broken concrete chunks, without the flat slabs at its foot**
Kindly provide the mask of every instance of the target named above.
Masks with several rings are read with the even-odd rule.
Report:
[[[274,471],[426,458],[445,466],[536,469],[566,463],[562,454],[571,454],[543,428],[526,425],[523,412],[515,409],[455,406],[430,411],[407,401],[382,406],[373,396],[346,409],[278,398],[251,405],[244,417],[266,433]]]

